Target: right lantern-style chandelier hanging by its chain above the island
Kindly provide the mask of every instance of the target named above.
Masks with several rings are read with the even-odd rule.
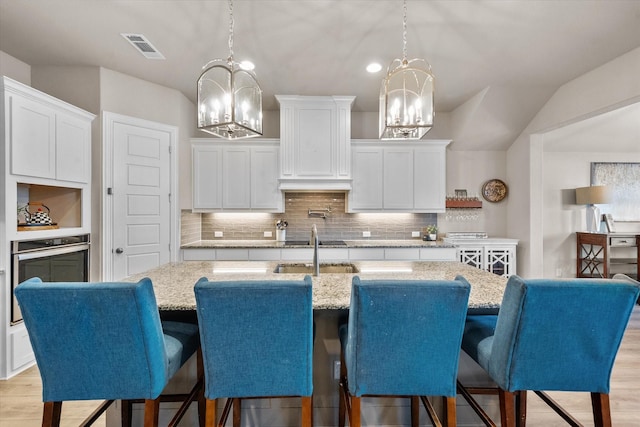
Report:
[[[380,88],[380,139],[420,139],[433,126],[431,66],[407,60],[407,1],[403,4],[402,59],[394,59]]]

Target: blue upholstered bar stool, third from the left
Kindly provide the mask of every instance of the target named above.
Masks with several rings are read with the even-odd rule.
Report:
[[[411,397],[411,425],[419,400],[434,423],[426,396],[444,397],[447,426],[456,425],[456,377],[467,314],[469,283],[456,280],[353,278],[349,323],[340,327],[341,380],[338,422],[361,425],[363,396]]]

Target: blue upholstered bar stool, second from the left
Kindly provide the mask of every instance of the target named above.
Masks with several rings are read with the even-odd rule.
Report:
[[[205,370],[206,425],[216,425],[217,399],[227,398],[218,425],[224,425],[233,403],[233,425],[239,427],[241,399],[299,396],[301,425],[310,427],[311,277],[227,282],[202,278],[195,285],[195,296]]]

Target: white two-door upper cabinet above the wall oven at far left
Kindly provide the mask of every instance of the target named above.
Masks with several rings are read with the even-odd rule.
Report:
[[[3,84],[10,172],[89,183],[95,116],[6,77]]]

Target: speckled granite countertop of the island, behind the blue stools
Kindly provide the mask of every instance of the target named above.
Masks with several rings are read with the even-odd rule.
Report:
[[[315,310],[348,309],[354,275],[362,279],[452,280],[460,274],[471,283],[469,308],[473,309],[498,308],[507,282],[504,277],[452,261],[356,261],[352,264],[360,272],[323,273],[312,277]],[[275,261],[185,261],[168,263],[125,280],[137,281],[149,277],[160,310],[195,310],[193,286],[201,277],[211,281],[228,281],[301,280],[305,276],[303,273],[274,273],[277,265]]]

